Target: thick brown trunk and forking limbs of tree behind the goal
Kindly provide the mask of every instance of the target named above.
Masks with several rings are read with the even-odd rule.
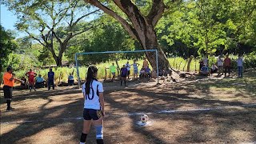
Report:
[[[98,0],[84,0],[90,4],[97,6],[100,10],[103,10],[106,14],[109,14],[127,30],[130,36],[134,39],[137,39],[138,42],[142,45],[144,50],[158,50],[158,64],[160,70],[166,70],[169,66],[169,62],[166,58],[166,55],[162,49],[158,46],[157,34],[154,30],[154,26],[158,23],[158,20],[162,17],[162,14],[165,10],[165,5],[163,0],[152,0],[152,7],[148,15],[143,15],[137,6],[134,5],[134,2],[131,0],[113,0],[116,6],[122,10],[126,16],[129,18],[129,22],[115,13],[113,10],[110,10],[109,7],[103,5]],[[150,62],[150,65],[154,70],[156,68],[156,58],[155,54],[146,52],[146,58]]]

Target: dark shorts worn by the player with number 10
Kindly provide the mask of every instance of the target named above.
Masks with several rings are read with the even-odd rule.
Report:
[[[84,120],[98,120],[102,118],[102,110],[94,110],[94,109],[84,109],[83,110],[83,119]]]

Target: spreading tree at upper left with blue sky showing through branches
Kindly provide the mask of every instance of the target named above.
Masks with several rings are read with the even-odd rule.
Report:
[[[82,26],[82,30],[76,29],[76,26],[98,11],[78,0],[5,0],[4,3],[18,15],[18,30],[25,31],[30,38],[46,47],[58,66],[62,65],[62,55],[68,48],[70,39],[89,30],[94,23]],[[62,36],[56,33],[61,26],[66,26],[66,32]],[[54,50],[54,38],[57,39],[58,50]]]

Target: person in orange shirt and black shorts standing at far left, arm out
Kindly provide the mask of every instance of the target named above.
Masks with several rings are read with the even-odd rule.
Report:
[[[13,69],[9,66],[6,69],[6,73],[3,74],[2,79],[3,79],[3,93],[4,93],[4,98],[6,99],[7,103],[7,109],[6,111],[11,111],[14,110],[10,106],[11,98],[13,97],[13,87],[14,87],[14,82],[15,80],[22,82],[22,80],[19,80],[18,78],[14,78],[13,74]]]

